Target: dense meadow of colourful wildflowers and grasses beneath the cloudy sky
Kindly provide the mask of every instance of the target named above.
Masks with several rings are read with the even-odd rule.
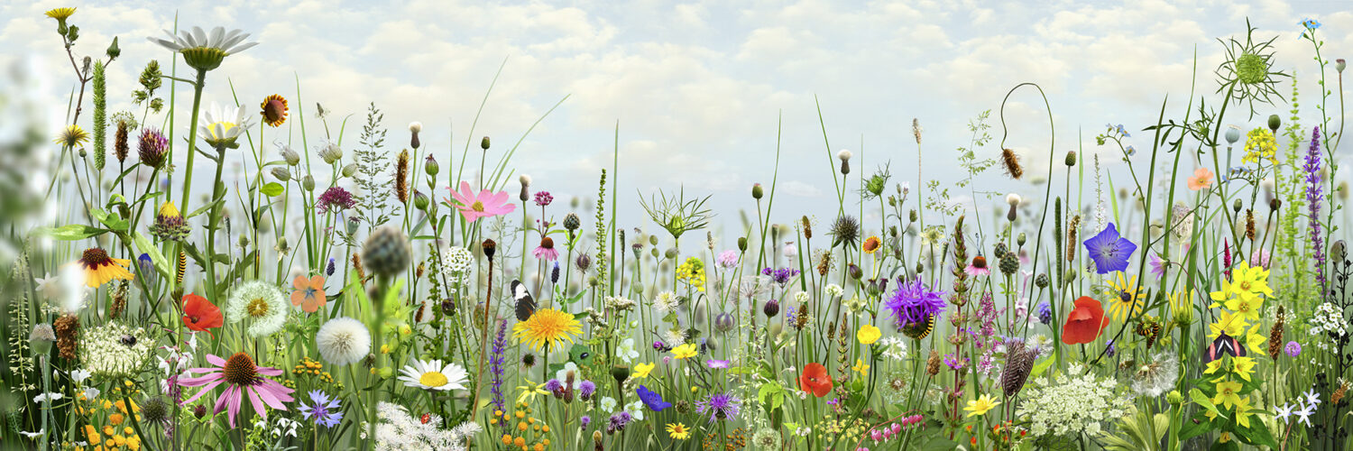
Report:
[[[955,192],[1019,187],[994,214],[824,137],[836,209],[777,206],[775,172],[725,242],[737,213],[695,186],[617,205],[612,164],[568,202],[515,173],[521,141],[238,99],[231,57],[268,45],[246,31],[122,61],[46,15],[74,89],[45,169],[69,177],[27,205],[85,209],[5,221],[4,448],[1353,448],[1345,62],[1312,19],[1246,24],[1157,122],[1097,129],[1126,177],[1084,149],[1026,167],[1007,102],[1057,107],[1026,83],[958,154]],[[1273,66],[1273,39],[1312,60]],[[143,65],[141,111],[108,111],[112,64]]]

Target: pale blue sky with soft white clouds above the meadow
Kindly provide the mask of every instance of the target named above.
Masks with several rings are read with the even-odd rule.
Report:
[[[988,110],[994,141],[976,149],[978,157],[996,157],[1004,135],[1036,181],[1050,141],[1042,99],[1034,89],[1011,96],[1008,135],[997,115],[1020,83],[1047,93],[1058,158],[1072,149],[1082,161],[1100,153],[1107,171],[1122,173],[1118,149],[1097,145],[1095,135],[1105,123],[1122,123],[1134,134],[1127,144],[1149,148],[1141,130],[1155,122],[1166,96],[1169,114],[1183,115],[1195,56],[1197,93],[1215,100],[1212,69],[1223,58],[1218,38],[1243,34],[1246,18],[1257,37],[1279,37],[1273,66],[1298,74],[1307,103],[1318,92],[1318,68],[1310,42],[1298,38],[1299,20],[1323,23],[1327,58],[1353,49],[1353,14],[1339,1],[0,3],[0,62],[35,74],[26,95],[50,106],[38,119],[53,133],[74,81],[55,23],[43,12],[66,5],[78,7],[70,19],[81,28],[77,58],[99,56],[120,38],[122,57],[108,72],[110,111],[134,108],[130,92],[149,60],[168,66],[169,51],[146,37],[162,37],[176,15],[180,27],[242,28],[258,42],[211,72],[206,102],[233,103],[233,88],[254,114],[264,96],[280,93],[292,115],[304,108],[310,126],[318,102],[333,111],[331,130],[349,118],[350,145],[373,102],[386,114],[391,153],[417,121],[422,144],[442,167],[468,137],[471,148],[492,137],[495,160],[568,96],[522,141],[510,167],[529,173],[533,190],[586,205],[618,139],[621,226],[645,229],[652,225],[636,200],[658,190],[710,195],[716,221],[740,228],[737,211],[755,209],[751,186],[770,186],[777,141],[777,199],[790,207],[778,210],[775,222],[805,211],[820,221],[835,215],[833,154],[840,149],[855,154],[852,177],[886,163],[894,183],[917,187],[920,160],[925,180],[948,186],[963,173],[955,149],[970,145],[967,126]],[[177,102],[187,110],[191,89],[180,88]],[[1291,87],[1279,91],[1287,95]],[[1227,123],[1247,130],[1268,114],[1288,116],[1288,108],[1261,107],[1254,119],[1230,115]],[[1302,114],[1318,112],[1307,106]],[[913,119],[923,127],[920,146]],[[265,131],[269,154],[288,133],[302,148],[296,121],[288,125]],[[179,126],[187,131],[185,121]],[[310,146],[317,145],[311,135]],[[1143,160],[1135,164],[1149,164],[1138,156]],[[506,187],[517,188],[514,181]],[[978,190],[1043,191],[997,171],[980,177]],[[990,209],[1004,200],[955,191],[954,202]]]

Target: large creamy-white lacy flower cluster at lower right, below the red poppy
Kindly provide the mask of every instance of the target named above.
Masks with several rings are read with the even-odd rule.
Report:
[[[1017,412],[1030,420],[1034,436],[1096,435],[1100,423],[1122,417],[1132,405],[1131,398],[1118,393],[1116,381],[1084,372],[1085,367],[1077,363],[1053,381],[1034,379]]]

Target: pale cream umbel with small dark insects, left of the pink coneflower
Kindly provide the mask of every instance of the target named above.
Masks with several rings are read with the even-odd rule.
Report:
[[[153,345],[145,329],[108,322],[80,335],[80,362],[99,378],[130,378],[150,364]]]

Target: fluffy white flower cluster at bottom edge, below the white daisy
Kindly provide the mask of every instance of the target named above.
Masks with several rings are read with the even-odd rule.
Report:
[[[379,451],[422,451],[422,450],[465,450],[465,439],[479,433],[476,423],[464,423],[451,429],[441,428],[441,416],[429,413],[422,418],[409,416],[403,406],[380,402],[376,405],[376,450]]]

